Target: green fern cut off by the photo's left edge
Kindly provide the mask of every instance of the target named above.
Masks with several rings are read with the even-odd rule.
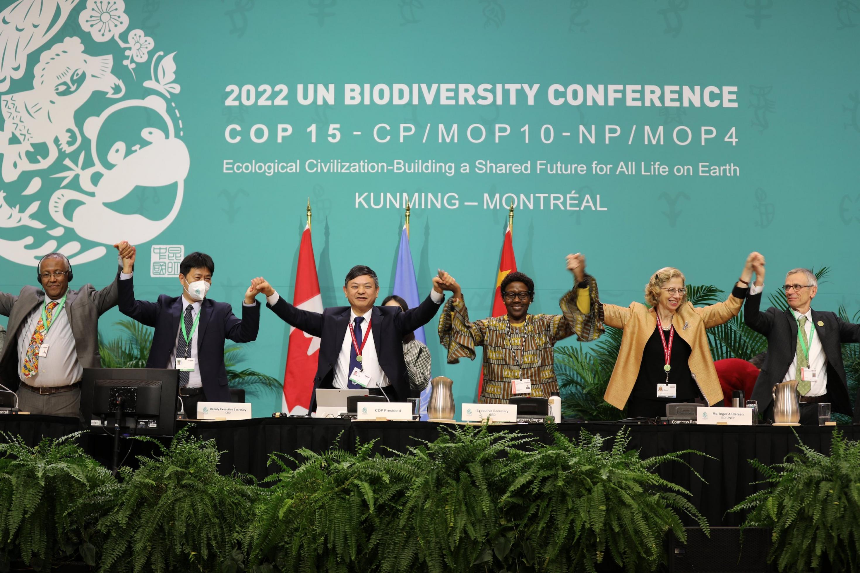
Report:
[[[21,559],[34,570],[83,559],[95,564],[95,521],[99,503],[78,500],[115,483],[106,468],[75,442],[81,432],[58,440],[44,438],[35,448],[21,436],[3,433],[0,444],[0,570]]]

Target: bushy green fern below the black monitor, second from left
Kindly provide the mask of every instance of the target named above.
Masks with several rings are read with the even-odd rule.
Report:
[[[120,485],[94,492],[113,508],[98,525],[107,535],[99,570],[237,570],[238,532],[264,492],[248,476],[218,473],[214,440],[188,436],[187,429],[169,448],[147,436],[134,439],[156,443],[161,454],[138,458],[138,470],[120,470]]]

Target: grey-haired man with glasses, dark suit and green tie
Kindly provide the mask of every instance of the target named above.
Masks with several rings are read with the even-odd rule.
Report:
[[[779,382],[796,380],[801,394],[801,424],[818,424],[820,403],[829,403],[832,411],[851,416],[841,344],[860,341],[860,325],[812,308],[818,280],[808,269],[792,269],[785,275],[783,291],[789,308],[771,307],[761,312],[764,261],[754,262],[753,271],[756,279],[746,297],[744,322],[767,337],[767,357],[753,389],[759,411],[772,420],[772,388]]]

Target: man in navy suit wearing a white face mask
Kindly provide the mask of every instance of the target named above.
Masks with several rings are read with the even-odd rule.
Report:
[[[134,298],[132,269],[135,247],[121,242],[123,269],[120,273],[120,312],[144,326],[156,329],[146,368],[179,369],[179,395],[188,415],[194,417],[197,403],[229,402],[227,370],[224,368],[224,341],[251,342],[260,328],[260,302],[253,287],[245,292],[242,320],[230,304],[206,298],[215,264],[204,253],[182,259],[179,282],[182,296],[158,296],[158,302]]]

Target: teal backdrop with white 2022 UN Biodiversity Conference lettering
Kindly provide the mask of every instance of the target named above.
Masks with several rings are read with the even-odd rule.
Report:
[[[18,4],[3,5],[20,12]],[[176,246],[212,255],[209,296],[237,311],[257,276],[292,301],[310,199],[323,304],[345,302],[342,279],[359,263],[378,272],[384,296],[394,280],[407,193],[418,194],[419,203],[424,198],[411,215],[421,295],[437,269],[445,269],[463,285],[472,318],[489,314],[512,198],[517,263],[537,286],[533,312],[558,312],[572,283],[564,266],[568,253],[587,256],[602,300],[626,305],[642,300],[648,276],[665,265],[678,266],[689,283],[729,290],[753,250],[767,258],[768,291],[783,283],[789,268],[826,265],[832,271],[814,306],[844,305],[850,315],[860,310],[858,3],[127,0],[107,15],[106,3],[67,4],[68,14],[58,9],[46,24],[57,27],[52,35],[42,27],[45,38],[31,46],[20,77],[7,77],[14,62],[2,66],[4,134],[12,137],[0,149],[0,290],[33,283],[35,260],[54,248],[72,257],[73,288],[101,287],[116,269],[112,244],[126,239],[138,247],[138,298],[181,293],[170,251],[159,251],[166,256],[159,265],[151,260],[153,246]],[[9,34],[4,29],[0,38]],[[75,42],[64,39],[76,37],[86,58],[79,49],[72,58]],[[40,68],[40,55],[50,56],[61,42],[61,56]],[[104,56],[112,65],[99,59]],[[76,78],[74,70],[83,71]],[[522,92],[514,105],[507,99],[439,105],[438,95],[429,105],[343,102],[347,83],[442,82],[539,87],[531,106]],[[736,88],[737,107],[632,107],[624,98],[614,106],[555,106],[547,92],[556,83],[728,86]],[[278,84],[288,88],[288,105],[241,105],[243,86],[256,101],[261,85]],[[332,84],[335,103],[300,105],[298,84]],[[230,85],[240,92],[238,106],[225,105]],[[92,94],[81,99],[87,86]],[[107,113],[132,100],[137,103]],[[25,103],[55,110],[52,119],[38,112],[28,119]],[[279,124],[292,125],[281,143]],[[379,124],[390,125],[387,143],[373,138]],[[402,124],[414,125],[415,135],[401,143]],[[440,124],[445,130],[458,125],[458,143],[439,142]],[[70,125],[80,132],[79,146]],[[229,125],[237,126],[238,143],[229,143]],[[253,125],[267,127],[267,141],[250,140]],[[311,125],[316,143],[306,131]],[[487,140],[471,143],[470,125],[484,126]],[[499,143],[496,125],[510,126]],[[550,143],[541,139],[544,125],[552,126]],[[581,126],[590,131],[592,125],[595,143],[581,143]],[[606,125],[619,130],[609,143]],[[652,132],[662,126],[664,143],[645,143],[645,126]],[[689,144],[673,141],[679,126],[691,130]],[[703,126],[716,133],[704,144]],[[329,129],[340,131],[336,143],[326,140]],[[685,140],[683,128],[678,133]],[[734,144],[725,141],[729,134]],[[28,141],[32,152],[21,149]],[[58,148],[53,159],[52,146]],[[36,155],[50,161],[40,163]],[[16,156],[22,158],[12,161]],[[456,173],[307,173],[305,162],[314,159],[451,162]],[[298,161],[302,171],[224,173],[225,160]],[[481,160],[531,162],[531,173],[476,173]],[[541,160],[584,164],[587,173],[537,174]],[[611,172],[593,173],[594,162],[611,164]],[[622,162],[634,162],[636,174],[617,173]],[[652,162],[668,166],[669,174],[642,174],[642,165]],[[703,176],[703,162],[737,169]],[[463,163],[470,173],[461,172]],[[675,175],[675,166],[691,166],[693,174]],[[579,203],[568,203],[571,192]],[[543,209],[541,193],[548,196]],[[551,194],[562,199],[550,205]],[[585,205],[586,196],[595,207],[599,197],[601,210],[567,209]],[[120,335],[114,323],[121,318],[116,309],[102,317],[105,338]],[[454,381],[458,404],[470,401],[480,354],[473,363],[446,364],[435,326],[427,326],[433,375]],[[280,379],[288,336],[289,327],[263,309],[242,366]],[[274,393],[256,397],[255,415],[270,415],[279,401]]]

